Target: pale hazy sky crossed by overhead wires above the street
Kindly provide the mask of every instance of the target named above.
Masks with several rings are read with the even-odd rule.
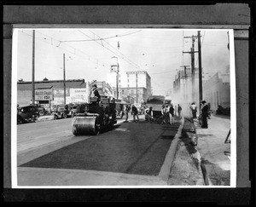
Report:
[[[147,71],[154,95],[172,89],[177,69],[191,65],[191,56],[183,54],[192,47],[196,30],[173,29],[36,29],[35,80],[63,78],[63,54],[66,79],[107,80],[112,57],[118,57],[119,71]],[[32,30],[17,32],[17,78],[32,80]],[[224,72],[229,65],[227,31],[201,30],[203,72]],[[118,49],[119,43],[119,49]],[[197,51],[197,39],[195,50]],[[198,55],[195,54],[195,66]],[[126,85],[125,85],[126,86]]]

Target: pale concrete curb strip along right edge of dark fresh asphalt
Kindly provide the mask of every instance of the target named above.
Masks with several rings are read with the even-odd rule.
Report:
[[[182,135],[182,129],[183,129],[183,124],[184,124],[184,118],[182,118],[182,123],[180,124],[179,128],[177,129],[177,133],[173,138],[171,147],[169,148],[167,154],[166,154],[166,159],[164,161],[164,164],[162,165],[159,173],[159,177],[163,181],[168,181],[170,171],[172,169],[172,163],[175,158],[176,152],[177,152],[177,145],[179,142],[179,138]]]

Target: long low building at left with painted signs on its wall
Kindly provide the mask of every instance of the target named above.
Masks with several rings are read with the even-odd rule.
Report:
[[[35,101],[36,103],[50,108],[53,105],[64,103],[64,81],[48,80],[35,81]],[[88,102],[89,84],[84,79],[66,80],[66,103]],[[17,104],[27,106],[32,103],[32,82],[23,81],[17,83]]]

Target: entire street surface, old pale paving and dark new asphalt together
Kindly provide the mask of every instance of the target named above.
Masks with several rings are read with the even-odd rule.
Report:
[[[168,179],[173,156],[166,159],[166,155],[180,121],[167,126],[145,123],[143,115],[140,120],[123,123],[119,119],[115,129],[97,136],[74,136],[71,118],[18,125],[19,185],[166,185],[160,177]],[[37,132],[32,134],[32,129]],[[43,171],[51,178],[44,179]],[[61,181],[59,175],[65,172],[82,174],[83,181]],[[58,179],[53,181],[55,176]],[[99,176],[118,181],[102,181]]]

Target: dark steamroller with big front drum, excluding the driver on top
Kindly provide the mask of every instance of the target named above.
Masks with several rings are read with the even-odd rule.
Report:
[[[113,129],[117,123],[115,102],[104,97],[100,102],[90,98],[90,103],[77,106],[72,120],[73,135],[99,135]]]

